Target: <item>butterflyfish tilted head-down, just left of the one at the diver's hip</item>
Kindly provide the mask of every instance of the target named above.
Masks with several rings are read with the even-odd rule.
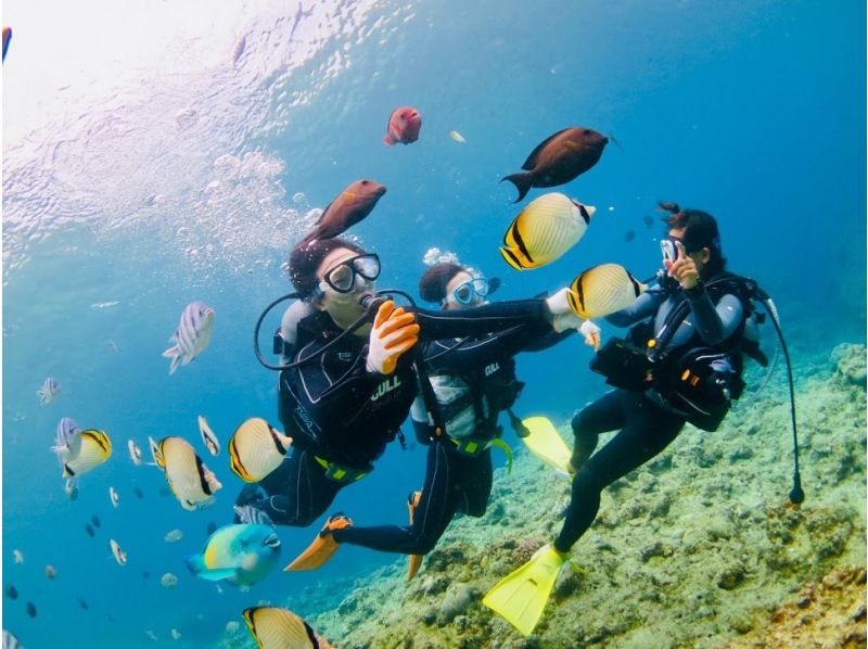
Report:
[[[187,440],[163,437],[154,442],[149,437],[149,444],[154,461],[166,473],[166,482],[181,507],[193,510],[214,501],[214,494],[222,485]]]

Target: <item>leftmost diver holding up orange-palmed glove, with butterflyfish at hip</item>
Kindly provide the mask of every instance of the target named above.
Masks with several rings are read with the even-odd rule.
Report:
[[[400,292],[374,292],[379,275],[378,256],[349,241],[304,239],[293,249],[290,278],[296,293],[272,303],[255,332],[275,304],[298,297],[276,339],[285,362],[267,365],[256,346],[260,362],[281,370],[278,409],[285,435],[264,420],[247,420],[233,434],[230,465],[251,483],[239,495],[240,510],[251,511],[243,507],[250,505],[275,524],[309,525],[341,488],[373,470],[386,444],[396,436],[403,444],[399,427],[418,386],[430,389],[427,381],[417,381],[424,364],[409,353],[420,336],[551,331],[580,323],[570,311],[566,289],[548,298],[481,305],[452,316],[396,307],[385,294]],[[346,524],[336,517],[321,535]]]

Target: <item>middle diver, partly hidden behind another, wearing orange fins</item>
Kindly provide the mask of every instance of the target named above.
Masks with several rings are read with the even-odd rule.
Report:
[[[445,314],[473,314],[473,307],[499,287],[497,278],[474,277],[470,269],[452,263],[429,268],[419,282],[425,302],[437,303]],[[512,412],[524,383],[515,377],[514,356],[522,351],[548,348],[579,328],[589,345],[599,344],[599,328],[571,314],[559,318],[554,329],[544,321],[510,324],[483,335],[426,340],[422,344],[427,380],[435,403],[425,393],[411,408],[418,440],[427,445],[424,485],[410,494],[410,525],[359,527],[345,517],[329,538],[321,533],[314,545],[286,570],[309,570],[321,565],[336,549],[335,544],[363,546],[383,552],[410,555],[407,578],[419,570],[422,555],[430,552],[457,512],[484,516],[492,493],[492,447],[512,450],[500,438],[500,412],[508,412],[520,436],[533,435]],[[424,332],[426,324],[422,324]],[[432,421],[431,410],[436,411]],[[438,423],[442,422],[442,428]],[[332,521],[337,518],[333,517]],[[324,548],[324,552],[323,552]]]

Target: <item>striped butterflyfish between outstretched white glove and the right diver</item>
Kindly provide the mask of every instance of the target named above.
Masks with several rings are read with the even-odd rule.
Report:
[[[618,264],[601,264],[573,280],[566,300],[579,318],[600,318],[627,308],[648,287]]]

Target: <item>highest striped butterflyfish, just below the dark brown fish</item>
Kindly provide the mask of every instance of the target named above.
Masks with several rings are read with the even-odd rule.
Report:
[[[550,264],[578,243],[595,212],[562,193],[542,194],[512,221],[500,254],[515,270]]]

